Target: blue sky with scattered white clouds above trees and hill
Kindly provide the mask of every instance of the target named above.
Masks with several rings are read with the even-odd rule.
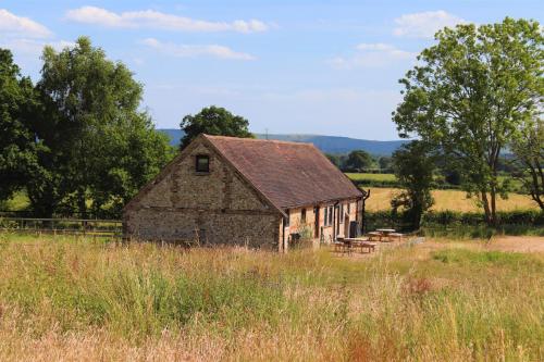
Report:
[[[543,15],[528,0],[0,0],[0,47],[37,80],[45,45],[90,37],[144,85],[158,128],[214,104],[254,133],[391,140],[398,79],[437,29]]]

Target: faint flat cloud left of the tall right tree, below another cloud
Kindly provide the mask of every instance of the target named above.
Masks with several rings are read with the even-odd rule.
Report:
[[[329,61],[335,68],[385,67],[399,61],[415,60],[416,53],[387,43],[360,43],[350,57],[336,57]]]

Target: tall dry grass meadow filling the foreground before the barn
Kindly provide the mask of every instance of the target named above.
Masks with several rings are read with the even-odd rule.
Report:
[[[544,254],[481,241],[355,259],[3,234],[0,275],[1,361],[544,359]]]

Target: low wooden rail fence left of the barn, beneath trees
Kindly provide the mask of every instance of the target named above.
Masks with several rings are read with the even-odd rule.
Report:
[[[123,225],[119,220],[2,217],[0,230],[52,235],[84,235],[90,237],[122,238]]]

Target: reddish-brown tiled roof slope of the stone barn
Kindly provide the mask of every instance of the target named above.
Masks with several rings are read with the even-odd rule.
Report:
[[[279,209],[362,196],[311,143],[205,137]]]

